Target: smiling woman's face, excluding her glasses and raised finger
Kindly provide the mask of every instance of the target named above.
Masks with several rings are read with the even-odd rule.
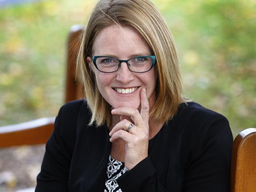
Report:
[[[95,38],[93,55],[128,60],[135,56],[151,55],[151,50],[135,28],[113,24],[101,30]],[[90,57],[86,59],[88,63],[92,61]],[[146,88],[149,107],[153,107],[157,80],[155,66],[146,73],[134,73],[124,62],[121,63],[118,71],[113,73],[98,71],[94,65],[91,67],[93,67],[101,95],[113,108],[129,106],[138,109],[142,88]],[[118,93],[117,91],[125,92],[127,88],[131,88],[131,91],[135,90],[132,93]]]

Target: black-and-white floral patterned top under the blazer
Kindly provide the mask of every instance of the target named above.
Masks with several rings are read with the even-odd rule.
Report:
[[[116,179],[123,175],[126,171],[126,167],[123,162],[114,160],[110,155],[108,158],[108,167],[107,167],[107,178],[105,182],[104,192],[122,192],[118,186]]]

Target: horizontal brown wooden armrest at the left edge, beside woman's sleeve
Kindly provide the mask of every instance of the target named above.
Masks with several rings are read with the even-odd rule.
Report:
[[[0,127],[0,147],[45,144],[54,128],[55,117],[44,117]]]

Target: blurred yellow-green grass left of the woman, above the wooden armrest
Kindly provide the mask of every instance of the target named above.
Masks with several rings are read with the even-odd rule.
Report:
[[[93,2],[0,7],[0,125],[56,116],[64,103],[66,39]]]

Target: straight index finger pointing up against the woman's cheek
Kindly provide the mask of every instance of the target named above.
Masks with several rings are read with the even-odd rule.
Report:
[[[148,119],[149,119],[149,103],[148,103],[148,97],[146,93],[146,89],[143,88],[140,91],[140,115],[146,125],[146,127],[149,129],[148,126]]]

